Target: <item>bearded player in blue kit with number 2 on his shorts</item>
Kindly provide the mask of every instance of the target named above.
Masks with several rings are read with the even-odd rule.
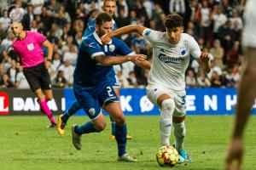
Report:
[[[73,91],[79,105],[91,120],[81,126],[72,126],[73,145],[77,150],[81,150],[82,134],[104,130],[106,127],[102,114],[102,109],[104,109],[116,122],[115,139],[118,144],[118,161],[137,161],[126,153],[125,115],[113,90],[112,82],[108,80],[108,73],[113,70],[112,65],[120,65],[128,61],[137,65],[146,65],[148,61],[145,60],[146,56],[143,54],[132,54],[131,49],[119,39],[113,38],[111,42],[103,45],[100,37],[110,32],[112,26],[110,15],[99,14],[96,17],[96,31],[84,37],[79,45]]]

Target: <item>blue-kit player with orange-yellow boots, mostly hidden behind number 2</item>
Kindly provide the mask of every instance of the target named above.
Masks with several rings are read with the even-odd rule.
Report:
[[[115,12],[115,8],[116,8],[115,0],[104,0],[102,9],[106,13],[108,13],[112,18],[113,18],[113,14]],[[112,30],[115,30],[117,26],[113,19],[112,19],[112,22],[113,22]],[[83,37],[86,37],[86,36],[89,36],[90,34],[92,34],[95,31],[95,25],[96,25],[96,20],[95,19],[90,20],[89,23],[87,24],[87,29],[84,31]],[[119,82],[118,82],[118,78],[116,77],[113,69],[108,73],[108,79],[111,80],[113,90],[119,98]],[[73,102],[73,104],[65,112],[64,115],[59,116],[58,126],[57,126],[58,133],[60,133],[61,135],[64,135],[65,126],[67,124],[68,118],[70,116],[73,116],[73,114],[76,113],[77,111],[79,111],[80,109],[81,109],[81,106],[79,105],[79,102],[76,100]],[[110,120],[111,120],[111,126],[112,126],[112,132],[111,132],[110,137],[111,137],[111,139],[114,139],[115,138],[115,136],[114,136],[115,135],[115,132],[114,132],[115,122],[113,121],[111,116],[110,116]],[[132,139],[132,137],[130,135],[127,135],[126,138]]]

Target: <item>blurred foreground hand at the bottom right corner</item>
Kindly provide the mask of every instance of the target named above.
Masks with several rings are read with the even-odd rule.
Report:
[[[227,156],[225,157],[225,170],[241,170],[243,148],[241,138],[232,139]],[[233,164],[236,161],[236,164]]]

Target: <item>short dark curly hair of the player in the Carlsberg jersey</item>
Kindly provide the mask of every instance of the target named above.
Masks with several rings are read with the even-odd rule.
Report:
[[[179,14],[168,14],[164,21],[167,29],[173,29],[183,26],[183,18]]]

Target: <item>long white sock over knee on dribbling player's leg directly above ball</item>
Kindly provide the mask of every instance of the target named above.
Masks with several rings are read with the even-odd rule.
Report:
[[[162,102],[160,109],[160,140],[161,145],[170,145],[169,139],[172,130],[172,114],[175,108],[173,99]]]

